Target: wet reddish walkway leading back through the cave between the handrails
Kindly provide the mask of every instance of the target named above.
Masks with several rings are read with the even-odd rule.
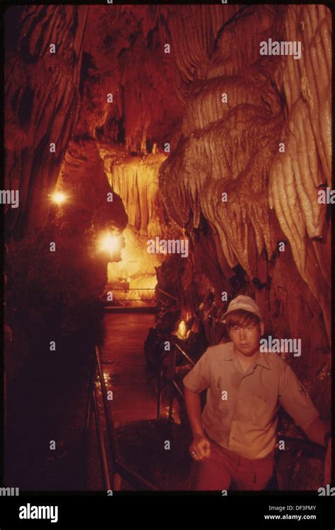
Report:
[[[185,426],[157,421],[157,383],[146,366],[143,343],[155,323],[151,313],[105,313],[102,370],[122,461],[160,489],[186,489],[189,433]],[[165,406],[164,406],[165,405]],[[102,408],[101,408],[102,411]],[[167,414],[163,403],[161,412]],[[95,435],[90,444],[88,488],[104,489]],[[170,440],[170,450],[165,441]],[[122,490],[132,489],[122,481]]]

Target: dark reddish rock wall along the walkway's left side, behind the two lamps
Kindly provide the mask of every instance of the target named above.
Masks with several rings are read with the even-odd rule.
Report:
[[[5,187],[20,193],[18,208],[5,206],[8,382],[50,337],[98,328],[109,261],[99,236],[127,225],[117,193],[107,200],[90,135],[101,118],[88,103],[88,85],[97,83],[82,60],[87,18],[88,6],[6,11]],[[55,190],[65,193],[64,205],[52,203]]]

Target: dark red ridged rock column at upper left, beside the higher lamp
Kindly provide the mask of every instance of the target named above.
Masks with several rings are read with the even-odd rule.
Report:
[[[6,12],[5,186],[20,191],[20,207],[6,212],[11,235],[22,237],[27,228],[46,221],[46,196],[57,181],[78,119],[87,14],[87,7],[76,6]]]

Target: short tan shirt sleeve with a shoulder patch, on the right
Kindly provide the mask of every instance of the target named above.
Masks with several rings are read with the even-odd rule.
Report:
[[[319,416],[319,411],[312,403],[305,387],[287,364],[279,380],[279,400],[298,427]]]

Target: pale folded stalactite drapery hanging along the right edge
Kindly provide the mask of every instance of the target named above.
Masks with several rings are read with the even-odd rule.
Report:
[[[329,244],[322,258],[318,250],[330,224],[325,227],[327,206],[319,203],[317,191],[331,182],[331,17],[325,6],[290,6],[285,20],[286,40],[301,41],[302,56],[282,60],[279,88],[286,95],[288,119],[281,134],[285,152],[277,153],[269,172],[269,205],[290,241],[300,275],[322,307],[330,339],[330,277],[320,274],[329,262]]]

